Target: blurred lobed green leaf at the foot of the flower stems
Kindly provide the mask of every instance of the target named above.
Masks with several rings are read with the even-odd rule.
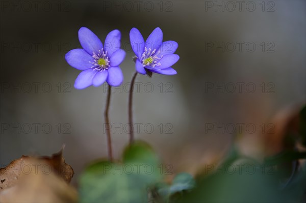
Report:
[[[148,188],[162,178],[159,158],[151,147],[137,141],[123,153],[123,163],[99,161],[80,179],[82,202],[147,202]]]

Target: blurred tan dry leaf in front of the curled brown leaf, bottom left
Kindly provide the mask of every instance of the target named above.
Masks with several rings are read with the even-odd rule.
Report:
[[[20,163],[23,166],[35,166],[35,169],[25,171],[23,168],[19,170],[19,174],[14,173],[15,176],[8,176],[8,181],[4,181],[3,184],[6,182],[11,184],[7,184],[7,188],[0,191],[0,202],[78,201],[77,191],[56,175],[55,171],[47,171],[46,165],[49,163],[45,160],[23,156],[12,163],[15,166]],[[10,182],[12,180],[14,181]]]

